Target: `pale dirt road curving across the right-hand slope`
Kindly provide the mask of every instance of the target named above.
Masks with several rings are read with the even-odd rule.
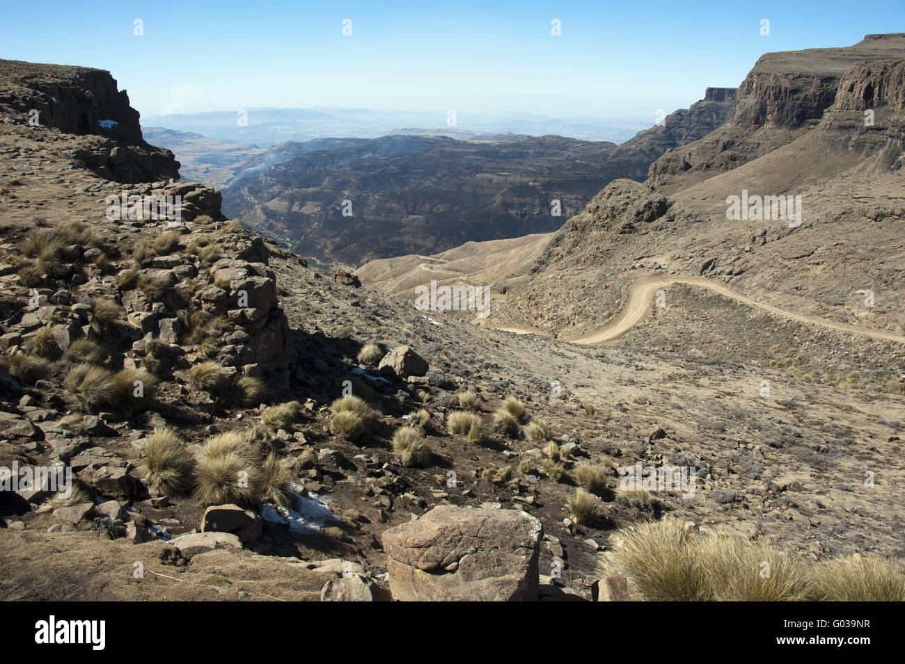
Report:
[[[845,332],[847,334],[858,334],[861,336],[870,337],[872,339],[905,343],[905,337],[900,336],[899,334],[881,332],[880,330],[868,330],[862,327],[857,327],[856,325],[834,323],[833,321],[827,321],[822,318],[814,318],[813,316],[805,316],[800,313],[790,312],[786,309],[781,309],[778,306],[774,306],[773,304],[765,304],[763,302],[757,302],[757,300],[752,300],[747,295],[742,295],[738,293],[738,291],[734,291],[729,288],[729,286],[721,284],[717,281],[710,281],[710,279],[705,279],[698,276],[679,275],[667,277],[653,276],[636,282],[632,285],[632,289],[629,292],[628,302],[624,305],[622,312],[619,313],[618,317],[614,321],[606,323],[603,327],[599,327],[596,330],[582,334],[581,336],[574,339],[563,338],[563,341],[581,343],[588,346],[615,341],[625,332],[632,330],[635,325],[641,323],[647,316],[647,314],[650,313],[657,291],[661,288],[665,289],[672,284],[688,284],[700,286],[701,288],[708,288],[714,293],[719,293],[719,295],[730,297],[733,300],[737,300],[738,302],[757,307],[758,309],[763,309],[764,311],[770,313],[776,313],[776,315],[785,316],[786,318],[797,321],[799,323],[819,325],[830,330]],[[507,328],[499,329],[507,330]],[[529,333],[527,330],[517,331],[513,328],[509,328],[508,331],[519,332],[522,334]]]

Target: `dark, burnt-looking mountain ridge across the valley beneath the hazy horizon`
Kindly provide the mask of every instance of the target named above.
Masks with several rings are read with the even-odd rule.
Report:
[[[237,169],[244,174],[227,183],[224,209],[297,253],[353,264],[548,232],[607,182],[643,180],[665,150],[724,124],[734,99],[734,89],[709,89],[691,108],[618,146],[559,136],[277,145]],[[552,213],[553,201],[561,216]]]

